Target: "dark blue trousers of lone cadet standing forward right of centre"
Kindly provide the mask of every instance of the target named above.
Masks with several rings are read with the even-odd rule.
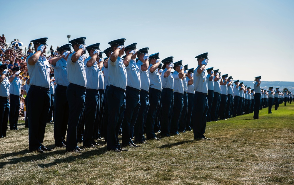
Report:
[[[200,94],[196,91],[193,97],[194,139],[202,138],[202,135],[205,133],[207,111],[207,96],[205,94]]]

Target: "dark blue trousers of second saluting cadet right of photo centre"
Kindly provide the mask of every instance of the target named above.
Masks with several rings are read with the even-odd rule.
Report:
[[[160,117],[160,135],[170,136],[168,131],[170,111],[173,102],[173,89],[163,88],[161,91],[160,104],[161,104],[161,117]]]

